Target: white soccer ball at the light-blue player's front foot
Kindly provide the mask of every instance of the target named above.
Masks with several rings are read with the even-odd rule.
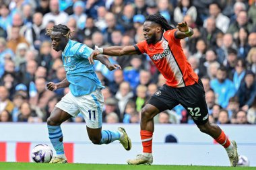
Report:
[[[47,144],[38,144],[32,149],[32,160],[35,163],[49,163],[53,157],[53,151]]]

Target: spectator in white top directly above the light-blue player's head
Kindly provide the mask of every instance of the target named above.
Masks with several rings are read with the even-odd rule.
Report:
[[[49,7],[51,12],[46,13],[42,18],[42,25],[44,28],[50,21],[55,22],[56,25],[67,23],[68,15],[64,11],[59,11],[58,0],[50,0]]]

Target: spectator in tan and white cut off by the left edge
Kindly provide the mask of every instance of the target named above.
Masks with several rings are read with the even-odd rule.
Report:
[[[0,86],[0,112],[7,110],[7,112],[11,113],[13,111],[14,104],[8,99],[8,97],[8,89],[5,86]]]

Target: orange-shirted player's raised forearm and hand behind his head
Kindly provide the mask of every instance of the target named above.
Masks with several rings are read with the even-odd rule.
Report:
[[[190,37],[194,34],[193,29],[187,26],[187,22],[180,22],[177,25],[178,31],[175,34],[175,38],[183,39]]]

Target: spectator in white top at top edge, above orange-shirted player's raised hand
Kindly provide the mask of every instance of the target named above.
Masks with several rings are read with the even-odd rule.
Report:
[[[191,15],[194,21],[197,19],[197,9],[191,0],[179,1],[179,5],[174,9],[174,22],[183,22],[185,15]]]

